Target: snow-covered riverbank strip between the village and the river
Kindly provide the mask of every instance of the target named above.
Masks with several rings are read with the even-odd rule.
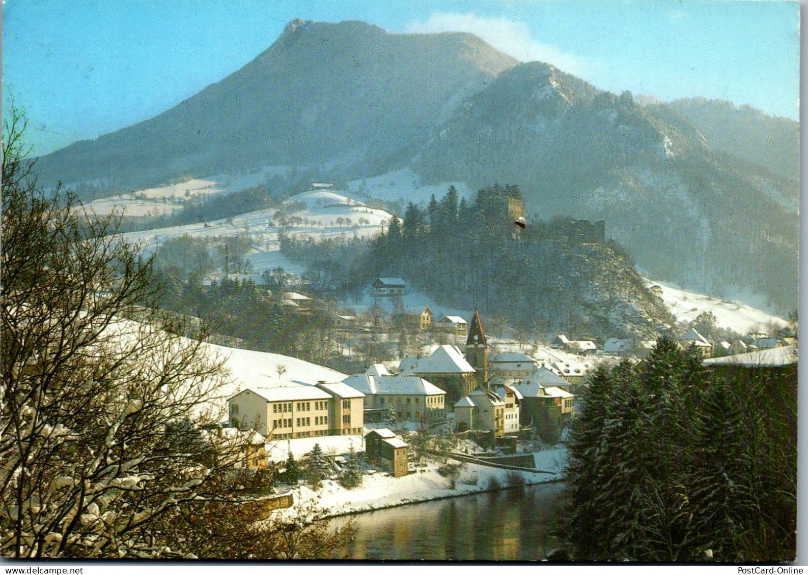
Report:
[[[426,467],[420,467],[418,471],[406,477],[390,477],[386,473],[365,474],[361,487],[352,490],[339,485],[338,481],[324,480],[319,490],[315,491],[309,485],[300,485],[292,491],[296,508],[306,508],[312,504],[326,517],[335,517],[407,503],[475,494],[489,490],[491,483],[496,482],[505,487],[508,485],[508,473],[516,473],[523,477],[525,485],[562,479],[566,467],[566,448],[546,448],[534,453],[533,456],[536,460],[536,469],[549,473],[514,472],[486,465],[467,464],[452,489],[448,477],[442,477],[438,473],[440,464],[430,462]],[[455,460],[450,462],[459,463]]]

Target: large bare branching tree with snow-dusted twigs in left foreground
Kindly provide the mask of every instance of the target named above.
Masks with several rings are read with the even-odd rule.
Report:
[[[196,556],[166,526],[183,514],[206,522],[212,502],[238,513],[244,500],[227,477],[246,440],[213,431],[226,373],[154,306],[152,262],[114,235],[120,219],[37,187],[23,128],[12,110],[2,157],[0,555]],[[271,553],[267,542],[259,555]]]

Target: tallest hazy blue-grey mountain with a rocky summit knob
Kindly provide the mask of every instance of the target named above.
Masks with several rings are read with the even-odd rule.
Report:
[[[425,140],[516,60],[466,33],[294,20],[255,60],[170,110],[44,156],[44,181],[153,184],[276,164],[341,165]]]

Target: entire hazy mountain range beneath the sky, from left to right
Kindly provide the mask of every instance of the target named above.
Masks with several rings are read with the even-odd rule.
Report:
[[[466,33],[295,20],[238,72],[37,170],[110,193],[259,165],[519,184],[532,219],[606,219],[650,277],[793,309],[797,124],[729,106],[640,106]]]

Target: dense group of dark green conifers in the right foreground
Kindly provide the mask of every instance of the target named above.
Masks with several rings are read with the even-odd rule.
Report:
[[[567,480],[575,560],[793,560],[797,366],[708,367],[665,338],[601,365]]]

